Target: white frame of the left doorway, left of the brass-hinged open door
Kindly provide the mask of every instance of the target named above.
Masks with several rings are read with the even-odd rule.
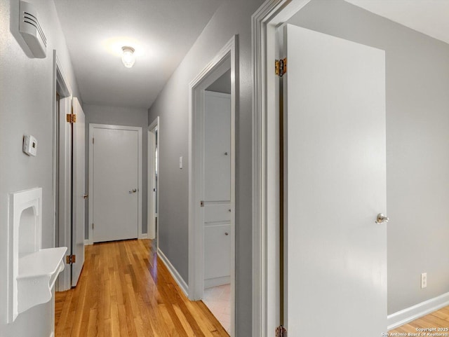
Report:
[[[64,68],[53,50],[53,247],[72,247],[72,128],[65,116],[72,112],[72,88]],[[56,104],[60,94],[60,111]],[[56,128],[59,127],[59,139]],[[59,144],[59,153],[56,153]],[[59,165],[58,165],[59,164]],[[59,181],[57,174],[59,172]],[[58,194],[56,193],[58,191]],[[58,195],[58,200],[57,200]],[[59,206],[58,219],[56,209]],[[58,229],[58,231],[56,231]],[[58,238],[56,238],[58,235]],[[64,268],[55,282],[55,291],[72,287],[72,268]]]

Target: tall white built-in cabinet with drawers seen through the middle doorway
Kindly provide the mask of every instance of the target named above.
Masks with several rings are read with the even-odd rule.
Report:
[[[204,92],[204,288],[231,282],[231,95]]]

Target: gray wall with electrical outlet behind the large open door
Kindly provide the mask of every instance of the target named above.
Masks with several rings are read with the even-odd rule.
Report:
[[[388,313],[448,292],[449,45],[342,0],[290,22],[386,50]]]

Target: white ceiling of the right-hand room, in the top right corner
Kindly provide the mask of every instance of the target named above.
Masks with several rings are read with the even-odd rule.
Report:
[[[345,0],[449,43],[449,0]]]

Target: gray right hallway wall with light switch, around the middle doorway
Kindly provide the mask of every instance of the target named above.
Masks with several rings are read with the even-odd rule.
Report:
[[[149,109],[159,124],[159,247],[188,281],[189,82],[239,34],[236,116],[236,336],[251,333],[251,15],[262,0],[229,0],[217,10]],[[179,169],[183,156],[184,169]]]

